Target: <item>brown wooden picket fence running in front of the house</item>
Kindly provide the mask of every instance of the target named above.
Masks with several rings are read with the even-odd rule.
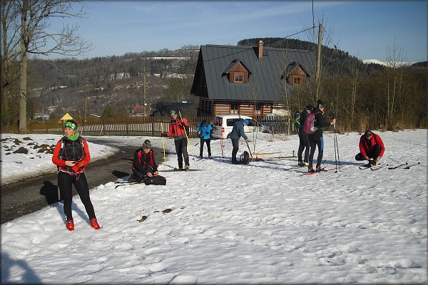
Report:
[[[196,125],[204,120],[203,117],[189,117],[190,130],[188,136],[196,138]],[[206,119],[206,118],[205,118]],[[169,130],[170,117],[128,117],[128,118],[90,118],[79,121],[78,131],[81,135],[141,135],[161,136]],[[290,120],[284,117],[275,117],[262,120],[263,125],[270,128],[271,133],[287,133]],[[58,120],[45,120],[44,122],[30,122],[29,133],[62,134],[63,123]]]

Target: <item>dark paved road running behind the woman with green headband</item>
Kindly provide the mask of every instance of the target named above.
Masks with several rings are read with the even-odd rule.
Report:
[[[91,139],[91,142],[118,147],[120,151],[106,159],[89,163],[85,171],[89,189],[131,174],[133,153],[138,146],[113,145],[102,138]],[[153,151],[155,152],[155,160],[159,164],[163,161],[163,150],[153,148]],[[53,173],[1,186],[1,224],[37,212],[49,204],[58,202],[57,185],[56,173]],[[77,195],[74,187],[73,195]]]

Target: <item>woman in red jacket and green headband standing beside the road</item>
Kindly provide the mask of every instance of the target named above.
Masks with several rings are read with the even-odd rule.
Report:
[[[67,120],[63,125],[64,136],[56,142],[52,162],[58,166],[58,187],[63,197],[63,209],[66,215],[66,227],[73,231],[74,222],[71,213],[71,202],[73,198],[72,187],[76,188],[78,195],[85,206],[89,222],[94,229],[101,229],[99,226],[91,197],[89,197],[88,180],[86,180],[85,166],[91,161],[88,143],[77,131],[77,123],[74,120]]]

